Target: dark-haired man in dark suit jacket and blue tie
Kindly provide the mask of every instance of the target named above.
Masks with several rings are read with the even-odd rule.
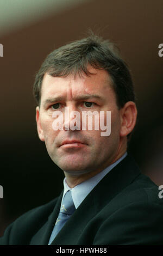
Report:
[[[114,46],[90,35],[54,50],[36,75],[34,95],[39,138],[64,171],[64,191],[10,224],[0,244],[161,244],[158,187],[127,154],[137,110],[130,72]],[[91,115],[82,118],[88,111],[92,129]],[[109,135],[101,124],[95,129],[95,119],[110,125]]]

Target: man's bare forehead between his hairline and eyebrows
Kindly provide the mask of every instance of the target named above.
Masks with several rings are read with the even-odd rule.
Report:
[[[76,95],[83,93],[98,94],[106,97],[108,94],[115,94],[112,88],[112,80],[105,70],[89,68],[92,75],[82,76],[68,75],[66,77],[53,77],[47,73],[43,77],[41,88],[41,101],[49,96],[65,95],[73,99]]]

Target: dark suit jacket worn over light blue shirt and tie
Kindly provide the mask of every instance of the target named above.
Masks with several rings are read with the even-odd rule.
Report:
[[[163,199],[158,187],[127,156],[84,199],[52,245],[161,245]],[[0,245],[47,245],[62,193],[17,218]]]

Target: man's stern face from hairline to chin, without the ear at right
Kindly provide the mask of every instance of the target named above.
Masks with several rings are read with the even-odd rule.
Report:
[[[90,77],[45,74],[40,107],[36,108],[37,130],[49,156],[62,170],[74,175],[104,169],[120,153],[122,118],[110,77],[105,70],[89,70],[94,73]],[[81,117],[83,111],[111,111],[111,135],[101,136],[100,129],[55,131],[52,115],[55,111],[64,113],[65,107],[70,112],[78,111]]]

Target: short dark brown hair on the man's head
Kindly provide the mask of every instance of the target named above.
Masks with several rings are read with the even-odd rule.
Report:
[[[88,65],[108,71],[119,108],[127,101],[135,102],[130,71],[120,57],[118,48],[108,40],[91,33],[87,38],[70,42],[48,54],[35,76],[33,92],[37,103],[40,105],[41,84],[46,73],[58,77],[70,74],[90,76]]]

